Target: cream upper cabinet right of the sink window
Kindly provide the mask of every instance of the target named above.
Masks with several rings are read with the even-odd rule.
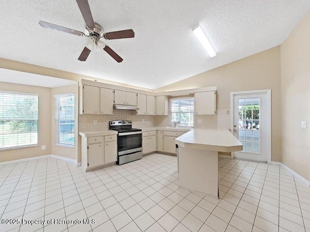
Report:
[[[198,92],[195,93],[195,114],[196,115],[215,115],[217,92]]]

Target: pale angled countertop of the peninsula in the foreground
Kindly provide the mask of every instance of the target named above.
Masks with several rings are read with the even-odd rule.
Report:
[[[200,129],[191,131],[175,139],[177,145],[209,151],[241,151],[242,144],[229,130]]]

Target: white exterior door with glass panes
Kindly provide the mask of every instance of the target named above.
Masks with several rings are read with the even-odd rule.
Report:
[[[234,157],[267,161],[266,94],[236,94],[233,99],[233,133],[243,145]]]

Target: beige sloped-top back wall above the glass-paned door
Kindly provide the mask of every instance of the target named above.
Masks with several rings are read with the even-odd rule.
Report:
[[[271,89],[272,94],[272,160],[280,161],[280,46],[198,74],[155,92],[217,86],[217,109],[230,109],[234,91]]]

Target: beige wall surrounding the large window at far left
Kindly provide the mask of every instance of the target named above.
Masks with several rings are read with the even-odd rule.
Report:
[[[39,94],[38,146],[0,151],[0,162],[51,154],[51,89],[0,82],[0,90]],[[46,150],[41,146],[46,145]]]

